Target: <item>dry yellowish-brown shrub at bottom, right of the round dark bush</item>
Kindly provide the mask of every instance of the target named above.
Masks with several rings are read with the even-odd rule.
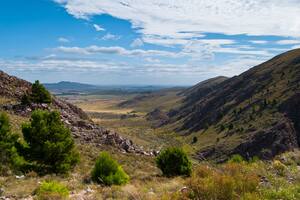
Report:
[[[251,199],[254,196],[259,178],[246,170],[243,164],[228,163],[221,169],[198,167],[187,181],[192,199]]]

